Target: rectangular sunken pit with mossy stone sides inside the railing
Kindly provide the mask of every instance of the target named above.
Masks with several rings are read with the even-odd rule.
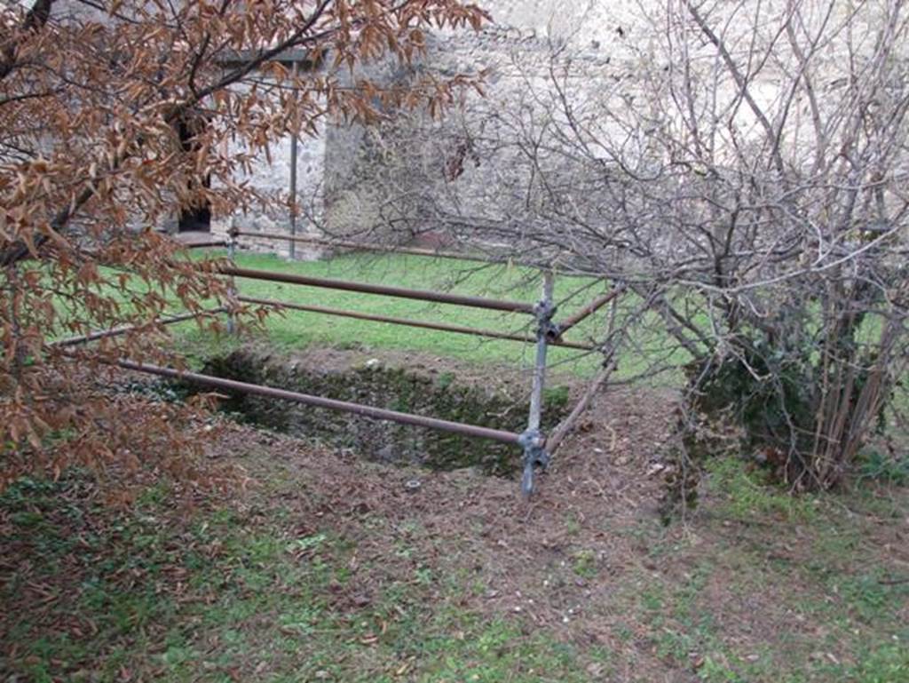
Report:
[[[335,349],[279,356],[244,348],[209,359],[204,372],[513,432],[523,431],[527,422],[529,377],[509,381],[504,373],[489,368],[467,370],[440,359],[389,354],[374,357]],[[546,390],[544,431],[564,417],[567,402],[567,387],[556,385]],[[496,476],[511,475],[520,466],[518,447],[487,439],[242,394],[230,396],[223,408],[259,427],[350,448],[382,462],[443,470],[478,467]]]

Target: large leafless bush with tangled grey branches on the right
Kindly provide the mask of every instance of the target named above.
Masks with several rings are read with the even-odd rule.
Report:
[[[832,487],[905,370],[909,10],[641,13],[650,39],[611,60],[524,40],[458,125],[389,135],[422,173],[388,181],[415,216],[394,227],[630,284],[685,349],[686,405],[794,487]]]

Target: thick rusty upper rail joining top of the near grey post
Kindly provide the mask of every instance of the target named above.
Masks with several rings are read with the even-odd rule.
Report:
[[[271,282],[286,282],[291,285],[305,285],[324,287],[326,289],[341,289],[349,292],[363,292],[381,296],[395,296],[405,299],[418,299],[421,301],[435,301],[440,304],[454,304],[457,306],[472,306],[474,308],[489,308],[498,311],[514,313],[534,313],[533,304],[520,301],[500,301],[487,299],[481,296],[466,296],[449,294],[447,292],[432,292],[424,289],[405,289],[402,287],[386,285],[370,285],[367,283],[347,282],[346,280],[331,280],[325,277],[311,277],[293,275],[290,273],[275,273],[270,270],[253,270],[251,268],[237,268],[223,266],[220,271],[223,275],[235,277],[248,277],[253,280],[269,280]]]

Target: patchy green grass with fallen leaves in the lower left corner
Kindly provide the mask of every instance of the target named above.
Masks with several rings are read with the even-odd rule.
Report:
[[[185,514],[152,489],[133,512],[86,507],[85,482],[0,497],[0,673],[34,681],[584,680],[570,647],[432,599],[417,568],[357,598],[357,544],[281,515]],[[264,513],[265,511],[260,511]],[[442,582],[462,594],[466,578]],[[51,588],[53,587],[53,588]],[[35,608],[27,609],[25,605]],[[239,678],[237,678],[239,677]]]

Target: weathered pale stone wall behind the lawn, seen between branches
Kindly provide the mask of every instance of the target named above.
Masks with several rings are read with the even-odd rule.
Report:
[[[604,124],[596,131],[599,136],[615,136],[613,148],[625,146],[629,158],[642,165],[648,155],[662,154],[651,152],[646,126],[642,125],[648,107],[654,106],[648,97],[658,97],[658,87],[646,92],[641,88],[644,78],[659,85],[664,74],[677,66],[677,55],[666,52],[664,36],[654,28],[659,22],[652,23],[646,16],[648,7],[655,11],[659,4],[634,0],[617,0],[608,6],[597,2],[497,0],[490,5],[494,25],[478,34],[436,33],[429,41],[428,54],[414,70],[373,65],[363,73],[392,83],[419,72],[452,76],[488,70],[484,97],[468,94],[463,107],[454,107],[444,122],[421,112],[399,113],[369,128],[327,125],[322,137],[301,145],[301,151],[306,149],[300,161],[302,191],[313,192],[321,199],[312,205],[314,220],[308,227],[332,235],[388,239],[388,231],[395,230],[390,226],[403,226],[394,232],[394,238],[402,240],[433,230],[446,216],[457,216],[464,223],[482,226],[511,222],[503,234],[514,235],[514,224],[545,215],[530,205],[551,201],[551,197],[534,188],[534,169],[522,157],[514,131],[508,128],[545,126],[547,117],[561,116],[558,107],[551,106],[557,96],[554,80],[571,91],[575,105],[598,108],[614,116],[614,125]],[[728,15],[726,30],[743,41],[739,46],[744,49],[753,37],[758,47],[760,41],[771,39],[768,35],[735,33],[737,26],[748,29],[751,25],[753,17],[747,13],[764,13],[762,25],[772,27],[784,5],[784,0],[771,0],[759,9],[758,5],[728,3],[716,5],[715,11]],[[820,4],[809,7],[809,25],[823,20],[821,9]],[[742,15],[742,20],[734,21],[733,13]],[[870,21],[869,17],[864,19]],[[694,25],[691,29],[698,30]],[[693,49],[690,64],[694,71],[714,67],[717,57],[713,45],[701,41]],[[785,45],[780,49],[780,57],[785,59]],[[834,92],[834,75],[842,65],[834,52],[824,55],[819,64],[830,70],[830,79],[818,78],[828,91],[824,96],[828,96]],[[769,105],[781,95],[780,86],[771,66],[752,85],[751,95],[759,104]],[[732,85],[727,90],[720,96],[734,95]],[[669,97],[666,92],[663,96]],[[760,135],[747,107],[739,107],[736,116],[740,117],[741,130],[751,129]],[[636,137],[629,136],[627,143],[619,140],[628,136],[624,120],[638,126]],[[565,122],[561,119],[555,123],[564,126]],[[509,136],[511,141],[504,144]],[[256,186],[286,191],[288,150],[289,142],[285,141],[275,148],[270,166],[264,162],[256,166],[252,176]],[[651,160],[657,165],[663,161],[653,156]],[[575,196],[583,200],[578,206],[584,205],[592,220],[608,214],[607,204],[599,204],[595,197],[592,201],[590,188],[596,185],[594,191],[600,191],[602,178],[585,177],[578,168],[559,166],[564,165],[564,156],[560,159],[553,155],[543,161],[550,165],[543,170],[564,182],[560,192],[566,201],[574,201]],[[647,169],[641,166],[639,170]],[[285,215],[246,214],[229,220],[243,229],[282,232],[288,224]],[[485,230],[484,236],[494,239],[494,230]],[[286,253],[286,243],[249,244]],[[318,250],[305,253],[313,256]]]

